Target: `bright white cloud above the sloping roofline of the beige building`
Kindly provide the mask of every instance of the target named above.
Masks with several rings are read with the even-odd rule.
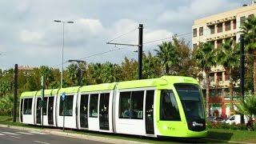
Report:
[[[159,25],[168,26],[178,33],[189,32],[195,19],[211,14],[218,14],[239,6],[238,2],[231,0],[191,0],[189,5],[178,6],[176,9],[162,12],[157,18]],[[182,30],[187,31],[182,31]]]

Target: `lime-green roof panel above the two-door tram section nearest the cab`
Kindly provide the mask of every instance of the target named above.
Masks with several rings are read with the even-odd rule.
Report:
[[[98,85],[90,85],[90,86],[82,86],[79,91],[80,92],[89,92],[89,91],[102,91],[102,90],[114,90],[114,83],[102,83]]]

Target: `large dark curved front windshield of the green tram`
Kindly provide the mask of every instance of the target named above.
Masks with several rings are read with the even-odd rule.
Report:
[[[202,93],[199,86],[194,84],[178,83],[174,84],[174,87],[182,101],[186,120],[193,121],[205,119],[204,109],[202,106]]]

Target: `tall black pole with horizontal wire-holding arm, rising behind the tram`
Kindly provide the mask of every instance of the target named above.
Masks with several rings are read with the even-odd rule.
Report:
[[[142,79],[143,24],[138,25],[138,45],[114,42],[106,42],[106,44],[115,46],[138,46],[138,79]]]

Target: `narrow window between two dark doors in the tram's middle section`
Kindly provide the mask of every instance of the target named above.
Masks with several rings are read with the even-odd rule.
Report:
[[[98,118],[98,94],[90,94],[90,118]]]

